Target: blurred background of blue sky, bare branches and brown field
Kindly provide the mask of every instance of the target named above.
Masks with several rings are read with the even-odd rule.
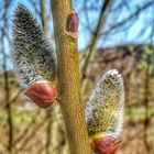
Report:
[[[54,46],[50,0],[0,0],[0,154],[69,154],[58,103],[37,108],[13,74],[11,19],[18,2],[37,18]],[[74,0],[73,6],[85,105],[102,74],[117,68],[125,86],[117,154],[154,154],[154,0]]]

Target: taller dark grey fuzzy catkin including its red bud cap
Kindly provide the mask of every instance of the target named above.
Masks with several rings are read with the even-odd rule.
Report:
[[[55,51],[23,4],[18,4],[12,19],[12,55],[24,95],[38,107],[50,107],[57,98]]]

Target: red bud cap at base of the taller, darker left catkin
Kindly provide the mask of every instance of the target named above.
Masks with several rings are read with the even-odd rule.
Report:
[[[30,86],[24,95],[41,108],[50,107],[57,98],[57,88],[51,82],[36,82]]]

